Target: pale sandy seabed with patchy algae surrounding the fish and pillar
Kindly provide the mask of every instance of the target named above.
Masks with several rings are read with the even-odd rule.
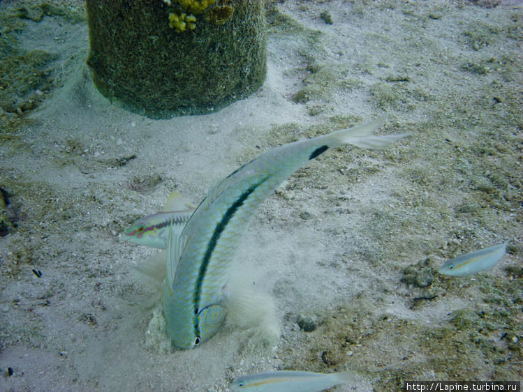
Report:
[[[169,120],[101,96],[83,3],[34,17],[42,3],[0,3],[0,390],[226,391],[281,369],[360,375],[336,391],[523,378],[519,1],[267,3],[260,90]],[[122,241],[133,220],[384,114],[380,134],[411,136],[328,151],[246,227],[231,285],[272,298],[275,345],[230,326],[190,351],[151,343],[154,290],[130,267],[157,251]],[[492,271],[437,273],[503,241]]]

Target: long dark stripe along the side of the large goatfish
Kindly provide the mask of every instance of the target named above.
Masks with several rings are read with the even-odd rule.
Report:
[[[265,181],[267,181],[267,178],[263,179],[258,183],[255,183],[244,193],[242,193],[242,195],[240,195],[240,197],[236,199],[234,204],[228,208],[226,213],[223,214],[220,223],[216,225],[214,233],[212,234],[212,237],[209,240],[209,244],[207,245],[207,250],[205,250],[205,255],[203,256],[202,264],[200,264],[200,271],[198,272],[198,279],[196,280],[196,289],[194,291],[195,315],[198,315],[198,312],[200,312],[200,294],[202,292],[203,280],[205,279],[205,273],[207,273],[207,267],[209,266],[209,262],[211,261],[212,252],[214,252],[214,248],[216,248],[216,244],[218,243],[221,233],[223,233],[223,230],[226,229],[228,223],[233,218],[236,211],[238,211],[238,209],[240,209],[240,207],[244,204],[247,197],[249,197],[249,195],[251,195],[251,193],[253,193],[254,190],[256,190],[256,188],[258,188],[258,186],[263,184]],[[196,331],[196,336],[200,336],[200,326],[198,325],[198,317],[194,318],[194,329]]]

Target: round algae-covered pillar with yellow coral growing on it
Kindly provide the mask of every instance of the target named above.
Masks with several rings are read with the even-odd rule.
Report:
[[[265,79],[263,0],[87,0],[104,96],[152,118],[204,114]]]

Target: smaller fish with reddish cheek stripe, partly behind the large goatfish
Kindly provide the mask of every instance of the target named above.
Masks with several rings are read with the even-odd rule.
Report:
[[[168,237],[168,226],[172,226],[175,235],[182,233],[191,218],[195,207],[177,191],[173,191],[163,207],[163,212],[154,213],[135,220],[125,232],[123,239],[139,245],[165,249]]]

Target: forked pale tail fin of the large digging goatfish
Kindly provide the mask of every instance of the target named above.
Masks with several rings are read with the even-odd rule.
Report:
[[[364,123],[353,128],[338,130],[329,135],[338,145],[353,144],[364,149],[379,149],[402,139],[408,133],[398,133],[396,135],[374,136],[374,132],[385,122],[385,116],[378,117],[373,121]]]

